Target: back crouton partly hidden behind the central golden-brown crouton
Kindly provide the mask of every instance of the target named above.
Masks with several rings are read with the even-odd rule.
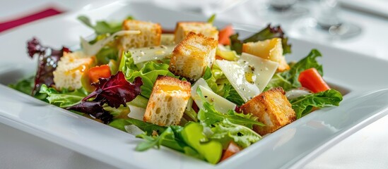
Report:
[[[175,44],[182,42],[182,40],[189,35],[189,32],[202,34],[206,37],[212,37],[218,40],[218,30],[211,23],[203,22],[179,22],[175,27]]]

